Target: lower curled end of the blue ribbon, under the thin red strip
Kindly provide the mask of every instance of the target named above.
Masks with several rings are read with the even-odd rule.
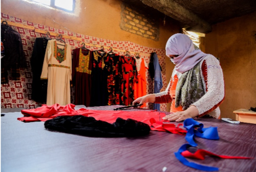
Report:
[[[218,171],[219,169],[213,166],[204,166],[199,165],[197,163],[189,162],[186,160],[185,157],[181,155],[182,152],[187,150],[189,147],[192,147],[190,144],[184,144],[182,145],[177,152],[174,153],[175,157],[184,165],[189,166],[191,168],[195,168],[197,170],[203,170],[203,171]]]

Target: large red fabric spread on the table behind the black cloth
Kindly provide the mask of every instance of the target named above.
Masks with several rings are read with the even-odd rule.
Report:
[[[42,105],[36,109],[22,110],[24,117],[20,117],[18,120],[24,122],[46,121],[58,116],[84,115],[86,117],[94,117],[96,120],[102,120],[108,123],[114,123],[118,117],[121,117],[124,120],[131,118],[151,125],[151,118],[155,118],[156,121],[159,121],[160,118],[165,116],[165,113],[156,111],[90,110],[83,108],[75,110],[74,107],[74,104],[68,104],[66,106],[61,106],[59,104]]]

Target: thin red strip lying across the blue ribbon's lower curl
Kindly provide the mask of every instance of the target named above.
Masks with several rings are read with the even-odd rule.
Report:
[[[227,155],[217,155],[203,149],[198,149],[194,154],[189,152],[189,150],[185,150],[184,152],[181,153],[181,155],[186,158],[195,158],[198,160],[204,160],[205,156],[207,155],[211,157],[219,157],[224,159],[251,159],[252,158],[252,157],[233,157],[233,156],[227,156]]]

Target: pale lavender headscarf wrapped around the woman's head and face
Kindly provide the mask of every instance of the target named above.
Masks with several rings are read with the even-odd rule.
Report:
[[[189,36],[177,33],[171,36],[166,43],[166,55],[179,55],[171,59],[176,65],[177,72],[184,73],[193,68],[205,57],[205,53],[193,44]]]

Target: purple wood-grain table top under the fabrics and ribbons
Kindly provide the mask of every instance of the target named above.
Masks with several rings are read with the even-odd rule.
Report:
[[[88,109],[113,110],[116,107],[119,106]],[[19,111],[1,117],[1,171],[143,172],[162,171],[164,166],[166,171],[199,171],[182,165],[174,157],[174,152],[187,143],[181,135],[150,131],[148,136],[135,138],[85,137],[48,131],[43,122],[18,121],[22,116]],[[256,125],[233,125],[213,118],[198,121],[205,127],[217,126],[220,136],[218,141],[196,137],[198,148],[219,155],[256,157]],[[187,160],[215,166],[220,171],[256,171],[256,158]]]

